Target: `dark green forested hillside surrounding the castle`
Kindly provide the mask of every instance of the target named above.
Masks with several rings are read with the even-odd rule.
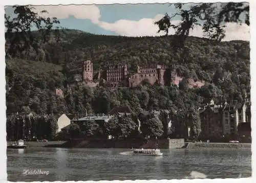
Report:
[[[185,48],[172,49],[173,36],[101,36],[76,30],[63,30],[37,51],[23,51],[6,57],[7,113],[33,111],[37,114],[107,113],[127,104],[139,112],[156,109],[188,109],[204,99],[223,95],[227,100],[244,100],[250,90],[249,42],[215,42],[188,37]],[[141,86],[131,89],[87,88],[73,82],[81,72],[81,61],[91,60],[94,72],[108,64],[126,62],[130,71],[137,65],[154,63],[172,66],[178,74],[207,85],[188,89],[186,82],[176,86]],[[224,78],[224,80],[223,80]],[[55,96],[61,88],[65,97]]]

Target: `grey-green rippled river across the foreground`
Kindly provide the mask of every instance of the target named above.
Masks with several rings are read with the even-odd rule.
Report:
[[[136,156],[129,149],[7,149],[9,181],[183,179],[251,176],[251,151],[238,149],[162,149],[162,157]],[[48,175],[26,175],[40,170]],[[193,174],[191,176],[190,174]],[[199,174],[200,175],[200,174]]]

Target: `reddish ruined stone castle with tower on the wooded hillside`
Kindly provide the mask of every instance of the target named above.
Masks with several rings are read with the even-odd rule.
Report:
[[[151,65],[147,67],[137,66],[135,73],[127,71],[126,64],[111,65],[93,73],[93,63],[89,60],[83,61],[83,71],[81,80],[84,85],[89,87],[104,86],[110,88],[117,87],[136,87],[147,81],[151,85],[159,84],[161,86],[177,85],[183,77],[178,76],[176,70],[167,68],[164,65]],[[188,87],[202,87],[204,82],[188,79]]]

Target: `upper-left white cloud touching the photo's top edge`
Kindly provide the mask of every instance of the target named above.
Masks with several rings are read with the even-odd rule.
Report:
[[[74,16],[79,19],[90,19],[93,23],[98,23],[100,11],[96,5],[58,5],[58,6],[34,6],[37,12],[46,10],[48,17],[56,17],[59,19],[69,18]]]

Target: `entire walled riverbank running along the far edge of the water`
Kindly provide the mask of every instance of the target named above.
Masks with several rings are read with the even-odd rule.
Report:
[[[251,149],[250,143],[192,143],[182,142],[181,139],[162,140],[109,140],[109,139],[73,139],[70,141],[25,142],[27,147],[59,147],[59,148],[155,148],[160,149],[186,148],[186,149]],[[10,143],[10,142],[7,142]]]

